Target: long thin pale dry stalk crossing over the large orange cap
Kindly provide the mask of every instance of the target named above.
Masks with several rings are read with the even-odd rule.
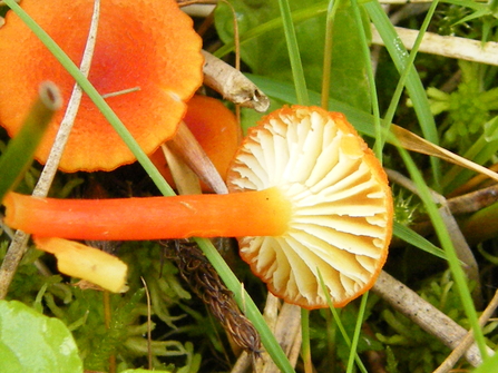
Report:
[[[85,52],[80,66],[81,72],[86,76],[88,76],[88,71],[90,70],[91,58],[94,56],[99,14],[100,14],[100,0],[95,0],[90,30],[88,33],[88,40],[85,47]],[[72,128],[72,124],[75,121],[75,117],[78,111],[79,102],[81,100],[81,95],[82,95],[81,89],[79,88],[78,85],[75,85],[71,98],[68,104],[68,108],[66,110],[65,118],[62,119],[62,122],[60,124],[59,127],[59,131],[57,132],[53,147],[50,151],[50,155],[47,159],[47,164],[45,165],[41,176],[32,193],[33,196],[46,197],[48,194],[48,189],[50,188],[50,185],[52,184],[53,177],[57,173],[60,157],[62,155],[67,139],[69,137],[69,132]],[[13,275],[16,274],[19,263],[21,262],[22,256],[27,251],[28,239],[29,239],[28,234],[21,230],[16,232],[16,236],[12,239],[9,251],[7,252],[6,258],[3,259],[2,266],[0,267],[0,300],[3,300],[7,295]]]

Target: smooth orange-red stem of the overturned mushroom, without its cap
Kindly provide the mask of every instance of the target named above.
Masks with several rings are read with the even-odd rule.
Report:
[[[10,193],[4,223],[45,237],[159,239],[280,236],[291,203],[277,187],[227,195],[56,199]]]

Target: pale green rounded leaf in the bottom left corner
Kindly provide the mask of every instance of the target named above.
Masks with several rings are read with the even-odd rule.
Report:
[[[82,372],[72,335],[58,318],[0,301],[0,372]]]

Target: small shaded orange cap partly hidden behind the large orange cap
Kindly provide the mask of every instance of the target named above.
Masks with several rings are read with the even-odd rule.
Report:
[[[237,120],[234,114],[215,98],[195,95],[187,102],[187,112],[183,120],[225,179],[238,146]],[[163,151],[155,151],[150,159],[173,185]],[[203,189],[207,187],[203,186]]]

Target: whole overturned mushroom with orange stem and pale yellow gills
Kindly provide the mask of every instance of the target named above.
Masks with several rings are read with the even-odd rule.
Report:
[[[252,128],[228,195],[57,200],[10,194],[6,223],[40,236],[155,239],[237,236],[242,257],[275,295],[305,308],[369,289],[392,234],[385,174],[338,112],[294,106]],[[238,192],[238,193],[236,193]]]

